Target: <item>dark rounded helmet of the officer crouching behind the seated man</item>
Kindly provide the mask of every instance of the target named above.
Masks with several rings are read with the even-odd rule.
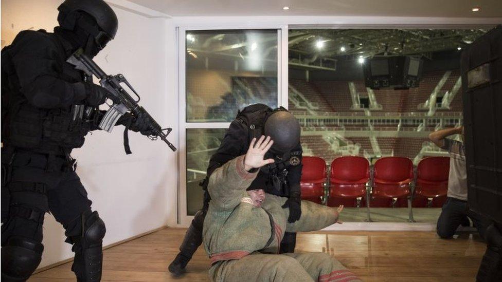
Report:
[[[265,135],[274,140],[273,151],[286,153],[300,142],[300,124],[290,112],[276,110],[265,122]]]

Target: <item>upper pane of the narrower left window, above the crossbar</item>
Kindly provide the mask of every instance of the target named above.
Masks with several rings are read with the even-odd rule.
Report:
[[[186,33],[186,121],[229,122],[249,104],[277,106],[277,30]]]

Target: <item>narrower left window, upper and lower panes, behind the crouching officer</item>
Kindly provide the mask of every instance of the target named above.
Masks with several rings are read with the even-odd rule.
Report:
[[[206,177],[209,159],[228,123],[249,104],[278,105],[280,31],[184,33],[185,77],[181,82],[185,81],[186,112],[181,120],[186,128],[186,214],[194,215],[203,203],[199,183]]]

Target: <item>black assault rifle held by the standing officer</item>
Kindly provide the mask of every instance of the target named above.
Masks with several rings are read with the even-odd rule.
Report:
[[[154,131],[154,135],[148,136],[151,140],[156,140],[158,137],[162,139],[166,144],[176,151],[176,147],[167,140],[167,136],[171,132],[172,128],[162,128],[153,118],[150,116],[148,111],[143,107],[138,105],[140,97],[138,93],[134,90],[132,85],[127,81],[124,76],[119,73],[115,76],[106,74],[91,58],[83,52],[82,48],[78,49],[73,53],[66,62],[75,66],[76,69],[84,71],[89,77],[93,74],[99,79],[99,84],[101,87],[108,90],[111,95],[106,97],[113,101],[110,109],[106,111],[98,127],[100,129],[112,132],[113,127],[117,123],[118,119],[122,117],[126,112],[132,112],[136,117],[145,117],[148,122],[149,127]],[[136,95],[137,100],[131,97],[129,93],[120,84],[126,84]],[[128,150],[126,149],[126,152]]]

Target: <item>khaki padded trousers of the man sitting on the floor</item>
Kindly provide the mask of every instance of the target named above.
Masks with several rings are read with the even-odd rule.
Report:
[[[209,269],[211,281],[360,281],[326,253],[250,254],[217,262]]]

